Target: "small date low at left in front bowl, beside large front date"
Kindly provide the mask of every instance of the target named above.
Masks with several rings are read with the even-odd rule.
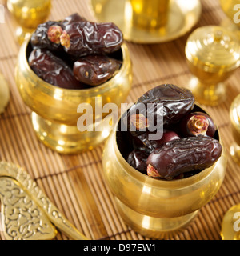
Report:
[[[143,150],[133,150],[127,158],[127,162],[130,166],[133,166],[134,169],[141,171],[142,173],[146,173],[146,159],[148,155]]]

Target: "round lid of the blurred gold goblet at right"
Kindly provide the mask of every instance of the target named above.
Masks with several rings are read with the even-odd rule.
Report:
[[[226,72],[240,65],[238,38],[221,26],[202,26],[186,42],[186,58],[205,71]]]

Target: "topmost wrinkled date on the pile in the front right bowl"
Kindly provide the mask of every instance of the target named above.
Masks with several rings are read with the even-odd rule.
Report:
[[[130,108],[127,116],[128,129],[132,134],[139,134],[142,130],[154,131],[156,123],[158,126],[170,126],[193,109],[194,101],[194,95],[188,89],[172,84],[154,87],[138,98]],[[162,111],[158,103],[162,103]],[[136,114],[142,118],[138,118],[139,122],[130,122],[137,119]]]

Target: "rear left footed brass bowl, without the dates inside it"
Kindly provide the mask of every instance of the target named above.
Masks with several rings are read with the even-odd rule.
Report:
[[[27,39],[18,54],[15,81],[26,106],[33,111],[32,124],[38,138],[52,150],[63,154],[90,150],[103,142],[110,134],[110,126],[106,126],[108,114],[102,113],[102,106],[112,102],[119,107],[125,102],[132,84],[130,54],[126,44],[122,44],[119,50],[123,62],[118,74],[101,86],[86,90],[62,89],[38,78],[28,63],[30,50],[30,42]],[[95,103],[100,99],[102,105],[95,107]],[[84,114],[77,113],[81,103],[87,103],[92,107],[92,131],[78,130],[78,118]],[[96,108],[98,114],[95,114]],[[96,131],[97,126],[100,131]],[[99,126],[102,126],[102,129],[99,129]]]

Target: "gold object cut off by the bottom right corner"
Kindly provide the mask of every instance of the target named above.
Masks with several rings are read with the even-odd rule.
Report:
[[[240,240],[240,204],[232,206],[222,219],[222,240]]]

